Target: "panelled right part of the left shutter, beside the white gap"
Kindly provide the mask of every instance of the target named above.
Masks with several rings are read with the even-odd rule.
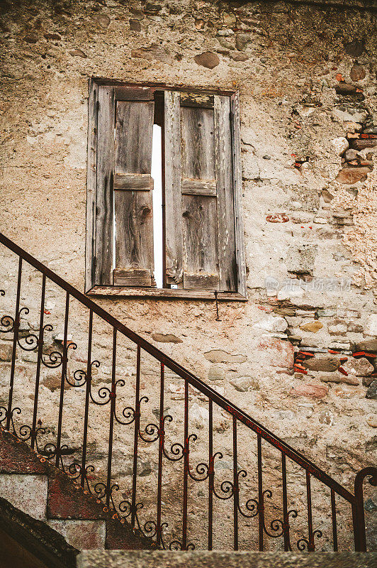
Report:
[[[154,268],[150,191],[153,115],[154,103],[151,101],[122,100],[116,104],[115,268],[116,271],[141,270],[139,273],[130,271],[127,277],[123,274],[123,285],[148,285],[145,271],[150,281]],[[118,273],[114,278],[118,282]]]

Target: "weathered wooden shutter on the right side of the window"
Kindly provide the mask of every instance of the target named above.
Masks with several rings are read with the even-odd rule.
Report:
[[[237,290],[230,97],[165,92],[166,279]]]

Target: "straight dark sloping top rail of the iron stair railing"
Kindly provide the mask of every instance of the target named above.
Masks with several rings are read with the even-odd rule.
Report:
[[[354,503],[354,495],[352,495],[350,491],[348,491],[346,488],[340,485],[337,481],[332,479],[332,477],[326,474],[325,471],[320,469],[320,467],[316,466],[313,463],[313,461],[310,461],[310,459],[303,456],[303,454],[298,452],[289,444],[283,442],[281,438],[274,435],[270,430],[262,426],[260,422],[257,422],[257,420],[254,420],[254,418],[247,415],[247,413],[244,413],[243,410],[241,410],[236,405],[231,403],[230,400],[227,400],[227,398],[217,393],[210,386],[206,385],[206,383],[201,381],[201,379],[195,376],[193,373],[191,373],[191,371],[188,371],[186,368],[184,368],[184,366],[181,366],[181,364],[174,361],[174,359],[171,359],[171,357],[169,357],[163,351],[152,345],[150,342],[148,342],[146,339],[141,337],[139,334],[133,332],[132,329],[125,326],[125,324],[117,320],[116,317],[113,317],[113,315],[111,315],[109,312],[104,310],[103,307],[96,304],[96,302],[94,302],[93,300],[91,300],[91,298],[81,293],[79,290],[77,290],[77,288],[74,288],[72,284],[69,284],[66,280],[64,280],[59,275],[57,275],[57,273],[53,272],[50,268],[48,268],[43,263],[38,261],[30,253],[26,252],[24,249],[21,249],[21,246],[18,246],[17,244],[13,243],[11,239],[8,239],[8,237],[6,237],[2,233],[0,233],[0,242],[4,244],[8,249],[16,253],[18,256],[23,258],[24,261],[29,263],[38,271],[45,274],[47,278],[52,280],[52,282],[55,282],[55,284],[60,286],[60,288],[62,288],[67,293],[75,297],[76,300],[78,300],[79,302],[81,302],[81,304],[84,304],[86,307],[88,307],[89,310],[92,310],[92,312],[94,312],[96,315],[98,315],[103,320],[108,322],[108,324],[110,324],[113,328],[117,329],[118,332],[125,335],[125,337],[128,337],[128,339],[130,339],[135,344],[139,345],[141,349],[147,351],[147,353],[152,355],[155,359],[158,359],[158,361],[160,361],[165,366],[170,368],[170,370],[176,373],[178,376],[186,379],[188,383],[191,384],[191,386],[197,388],[198,391],[201,391],[201,393],[208,396],[208,398],[213,400],[213,402],[218,404],[221,408],[227,410],[232,415],[237,417],[237,419],[240,420],[245,426],[249,427],[251,430],[254,430],[254,432],[257,432],[257,434],[261,435],[261,437],[264,438],[266,442],[269,442],[274,447],[281,450],[281,452],[286,454],[286,456],[288,456],[289,458],[293,459],[293,461],[296,461],[296,464],[302,466],[304,469],[309,471],[310,474],[312,474],[317,479],[322,481],[322,483],[325,483],[330,488],[333,488],[334,491],[337,491],[337,493],[339,493],[340,496],[342,496],[344,499],[347,499],[349,503]]]

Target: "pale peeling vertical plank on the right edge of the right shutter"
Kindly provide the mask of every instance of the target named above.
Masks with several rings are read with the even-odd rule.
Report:
[[[215,96],[215,164],[218,192],[220,290],[237,290],[235,205],[232,179],[230,97]]]

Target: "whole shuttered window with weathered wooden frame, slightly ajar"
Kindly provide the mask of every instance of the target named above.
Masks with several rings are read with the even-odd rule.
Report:
[[[246,299],[237,94],[89,88],[86,290]]]

